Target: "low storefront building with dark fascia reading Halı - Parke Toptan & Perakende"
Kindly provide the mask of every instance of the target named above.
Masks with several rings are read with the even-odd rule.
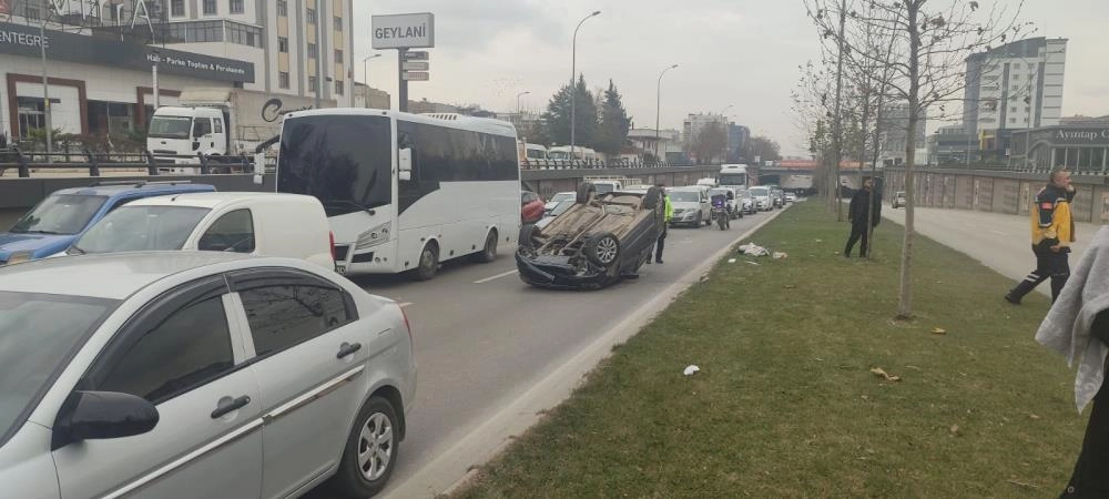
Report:
[[[0,2],[0,134],[28,139],[45,128],[48,109],[52,128],[64,134],[120,139],[144,131],[154,110],[154,64],[162,105],[175,104],[182,89],[256,81],[252,62],[152,44],[165,30],[162,14],[150,1]]]

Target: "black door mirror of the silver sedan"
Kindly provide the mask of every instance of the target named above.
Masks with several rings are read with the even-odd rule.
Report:
[[[74,391],[65,401],[59,427],[74,440],[133,437],[157,425],[157,409],[134,395],[115,391]]]

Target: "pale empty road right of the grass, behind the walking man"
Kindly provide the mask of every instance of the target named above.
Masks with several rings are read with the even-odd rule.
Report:
[[[1036,267],[1036,257],[1031,252],[1031,222],[1026,215],[924,207],[917,207],[914,215],[917,233],[969,255],[1014,282],[1024,279]],[[905,210],[884,206],[882,216],[905,224]],[[1093,224],[1076,224],[1078,241],[1071,244],[1071,267],[1081,258],[1087,242],[1099,228]],[[1036,289],[1051,294],[1047,284]],[[1000,298],[1006,291],[999,289],[997,296]]]

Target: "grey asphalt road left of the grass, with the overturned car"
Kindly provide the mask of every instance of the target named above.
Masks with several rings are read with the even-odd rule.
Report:
[[[384,496],[434,497],[448,489],[530,426],[536,410],[564,398],[611,350],[601,344],[622,340],[610,332],[634,334],[648,312],[669,303],[660,295],[676,295],[699,278],[691,271],[777,213],[733,221],[729,231],[672,228],[664,264],[644,265],[639,279],[599,292],[532,288],[515,273],[515,248],[503,246],[494,263],[448,264],[427,283],[356,277],[370,293],[403,304],[419,366],[416,409]]]

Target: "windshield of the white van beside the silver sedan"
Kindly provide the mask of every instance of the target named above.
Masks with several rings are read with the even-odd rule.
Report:
[[[181,249],[208,208],[123,206],[93,225],[70,253]]]

